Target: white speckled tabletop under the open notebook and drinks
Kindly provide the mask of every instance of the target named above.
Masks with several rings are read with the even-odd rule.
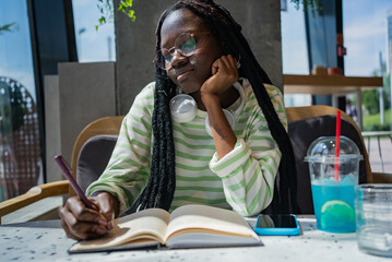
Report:
[[[313,216],[297,216],[300,236],[263,236],[263,247],[183,250],[138,250],[68,254],[74,240],[59,221],[0,226],[1,261],[391,261],[358,250],[356,234],[330,234],[316,228]],[[256,218],[248,219],[254,226]]]

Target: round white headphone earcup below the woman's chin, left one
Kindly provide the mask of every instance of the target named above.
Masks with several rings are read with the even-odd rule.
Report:
[[[192,96],[179,94],[170,99],[170,114],[176,122],[189,122],[197,116],[198,105]]]

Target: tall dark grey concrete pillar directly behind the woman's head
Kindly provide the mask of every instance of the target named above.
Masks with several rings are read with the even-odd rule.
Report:
[[[120,0],[115,0],[118,7]],[[124,115],[135,95],[155,81],[153,58],[155,28],[162,12],[175,0],[136,0],[136,21],[120,11],[115,13],[117,112]],[[282,90],[281,3],[276,0],[218,0],[242,32],[272,82]]]

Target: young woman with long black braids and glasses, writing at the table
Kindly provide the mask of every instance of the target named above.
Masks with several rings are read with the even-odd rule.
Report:
[[[240,29],[211,0],[182,0],[164,12],[156,81],[138,95],[106,170],[87,189],[99,212],[79,198],[60,211],[69,237],[106,234],[133,204],[171,211],[202,203],[256,215],[276,194],[277,169],[281,194],[288,194],[296,177],[282,94]],[[178,102],[179,93],[190,97]],[[274,199],[281,202],[288,212],[286,200]]]

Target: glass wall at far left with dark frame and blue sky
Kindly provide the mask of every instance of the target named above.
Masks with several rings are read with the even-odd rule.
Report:
[[[79,61],[115,61],[114,23],[102,25],[98,31],[95,28],[100,17],[98,1],[70,1]],[[34,10],[28,10],[27,2]],[[70,25],[66,21],[69,5],[62,0],[50,3],[52,5],[48,7],[45,1],[0,1],[0,202],[44,181],[37,112],[37,103],[43,103],[44,94],[43,87],[35,84],[43,84],[45,74],[56,74],[57,62],[76,60],[75,56],[69,55],[72,43],[67,39],[72,40],[66,26]],[[29,13],[34,13],[36,31],[33,45]],[[56,43],[58,36],[64,37],[60,39],[64,48]],[[38,67],[36,72],[34,66]],[[35,80],[35,75],[41,79]],[[38,106],[43,108],[43,105]]]

